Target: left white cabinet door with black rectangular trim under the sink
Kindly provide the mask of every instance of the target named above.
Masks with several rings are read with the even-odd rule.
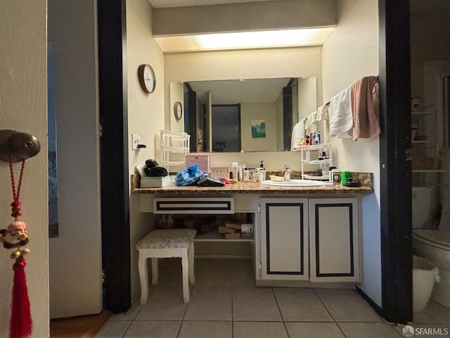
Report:
[[[308,280],[308,200],[261,199],[263,280]]]

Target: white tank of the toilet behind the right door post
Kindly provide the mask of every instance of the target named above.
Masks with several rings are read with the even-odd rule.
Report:
[[[432,211],[436,208],[436,198],[432,187],[413,187],[413,229],[423,228],[432,218]]]

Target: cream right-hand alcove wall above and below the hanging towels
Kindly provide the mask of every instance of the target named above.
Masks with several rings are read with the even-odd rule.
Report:
[[[323,45],[323,103],[367,75],[378,75],[378,1],[339,0],[338,27]],[[373,173],[375,194],[362,199],[364,282],[381,306],[379,139],[331,139],[340,170]],[[335,154],[337,156],[335,156]]]

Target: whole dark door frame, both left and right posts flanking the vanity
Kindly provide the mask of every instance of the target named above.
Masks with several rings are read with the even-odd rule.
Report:
[[[412,319],[409,0],[378,0],[383,317]],[[98,0],[105,308],[131,306],[125,0]],[[376,306],[375,306],[376,307]]]

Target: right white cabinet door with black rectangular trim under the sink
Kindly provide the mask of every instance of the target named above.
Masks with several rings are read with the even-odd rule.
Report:
[[[357,199],[309,199],[312,282],[359,282]]]

